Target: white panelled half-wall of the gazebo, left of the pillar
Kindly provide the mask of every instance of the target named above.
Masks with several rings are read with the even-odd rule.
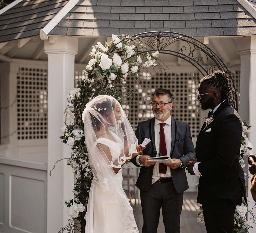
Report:
[[[47,164],[0,157],[0,232],[47,232]]]

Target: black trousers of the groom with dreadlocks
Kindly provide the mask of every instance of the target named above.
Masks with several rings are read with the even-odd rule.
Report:
[[[233,233],[236,205],[229,200],[202,204],[207,233]]]

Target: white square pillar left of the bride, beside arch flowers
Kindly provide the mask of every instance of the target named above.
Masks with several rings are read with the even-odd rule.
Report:
[[[52,36],[45,40],[48,55],[48,174],[55,162],[69,158],[71,148],[61,142],[60,128],[64,126],[67,93],[74,88],[75,55],[78,39]],[[47,181],[47,232],[58,232],[68,223],[64,204],[73,198],[74,176],[66,160],[56,164]],[[63,208],[64,207],[64,208]]]

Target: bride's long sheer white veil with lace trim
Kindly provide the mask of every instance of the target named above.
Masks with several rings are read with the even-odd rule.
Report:
[[[118,101],[106,95],[97,96],[90,101],[82,119],[94,182],[102,192],[109,195],[110,203],[119,206],[116,210],[119,217],[113,224],[121,225],[122,232],[138,232],[133,209],[122,184],[117,182],[118,174],[113,170],[121,168],[127,159],[131,159],[133,153],[137,153],[138,141],[134,131]],[[98,221],[99,224],[105,222],[104,219]]]

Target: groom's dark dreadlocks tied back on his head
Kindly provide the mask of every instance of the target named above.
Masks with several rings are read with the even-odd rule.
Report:
[[[205,84],[207,87],[213,87],[220,91],[223,101],[227,100],[228,105],[234,106],[234,99],[230,81],[226,72],[217,70],[200,80],[200,84]]]

